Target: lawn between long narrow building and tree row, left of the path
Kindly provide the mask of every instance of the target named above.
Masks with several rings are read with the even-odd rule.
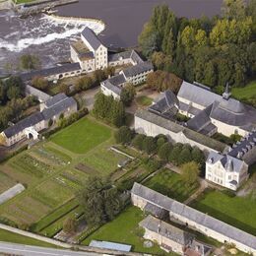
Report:
[[[145,186],[179,202],[184,202],[198,188],[197,185],[188,186],[179,174],[169,169],[162,169],[154,177],[147,180]]]

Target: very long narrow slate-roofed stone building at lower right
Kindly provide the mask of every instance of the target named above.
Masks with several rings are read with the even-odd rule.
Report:
[[[168,198],[139,183],[131,190],[134,206],[144,210],[148,203],[165,209],[172,222],[182,223],[222,243],[233,244],[237,249],[256,255],[256,237],[230,224],[225,224],[207,214]]]

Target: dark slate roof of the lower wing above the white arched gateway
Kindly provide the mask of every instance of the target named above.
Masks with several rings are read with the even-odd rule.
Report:
[[[11,138],[12,136],[22,132],[24,129],[29,128],[40,121],[43,120],[43,115],[41,112],[35,112],[32,115],[24,118],[13,126],[8,127],[4,130],[4,134],[7,138]]]

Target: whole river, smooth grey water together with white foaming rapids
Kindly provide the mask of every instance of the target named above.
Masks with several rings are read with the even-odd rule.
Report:
[[[138,34],[149,20],[152,9],[166,3],[178,17],[212,17],[220,13],[223,0],[80,0],[58,8],[58,15],[96,18],[94,22],[56,22],[44,15],[20,19],[12,11],[0,12],[0,70],[9,63],[17,66],[21,54],[40,57],[43,67],[69,57],[69,42],[79,37],[85,26],[99,32],[107,46],[129,47],[137,44]]]

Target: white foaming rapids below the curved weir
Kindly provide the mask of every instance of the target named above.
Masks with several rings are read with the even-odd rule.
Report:
[[[0,69],[7,63],[17,63],[24,53],[38,55],[42,66],[68,60],[70,41],[76,40],[85,27],[96,33],[104,30],[96,20],[67,21],[46,15],[21,19],[11,11],[0,12]]]

